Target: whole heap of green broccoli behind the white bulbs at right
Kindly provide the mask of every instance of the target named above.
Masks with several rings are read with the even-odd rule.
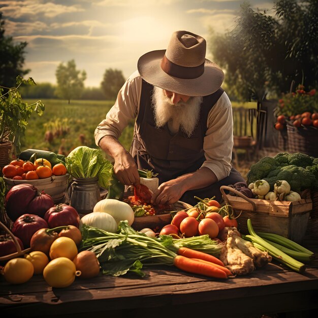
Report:
[[[247,184],[265,180],[274,189],[277,180],[287,181],[295,192],[318,186],[318,158],[305,153],[281,152],[274,157],[265,156],[251,165]]]

